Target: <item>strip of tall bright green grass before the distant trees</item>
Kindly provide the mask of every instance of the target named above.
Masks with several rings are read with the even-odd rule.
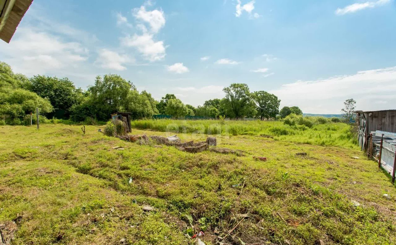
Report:
[[[316,120],[316,119],[315,119]],[[319,120],[320,121],[320,120]],[[160,132],[272,136],[275,140],[308,143],[322,146],[357,147],[357,139],[345,123],[319,122],[309,125],[288,125],[280,121],[185,121],[155,119],[132,121],[132,128]]]

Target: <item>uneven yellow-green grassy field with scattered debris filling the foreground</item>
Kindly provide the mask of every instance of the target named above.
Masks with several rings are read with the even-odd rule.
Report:
[[[133,122],[151,129],[133,134],[173,134],[144,126],[150,122],[160,124]],[[181,122],[199,123],[205,130],[210,121]],[[206,139],[187,126],[178,133],[183,141]],[[296,132],[277,135],[277,127]],[[395,244],[396,189],[343,138],[347,126],[288,127],[226,122],[218,147],[244,152],[237,156],[139,145],[104,136],[98,126],[87,126],[85,135],[63,124],[1,126],[0,224],[16,222],[13,244],[193,244],[186,234],[199,230],[207,245],[218,236],[241,245]],[[145,212],[145,205],[155,210]]]

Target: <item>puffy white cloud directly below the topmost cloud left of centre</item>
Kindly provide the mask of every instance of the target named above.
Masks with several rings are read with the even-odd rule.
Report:
[[[165,58],[165,46],[163,41],[154,41],[152,34],[134,34],[121,38],[122,45],[135,47],[145,59],[150,61],[162,60]]]

